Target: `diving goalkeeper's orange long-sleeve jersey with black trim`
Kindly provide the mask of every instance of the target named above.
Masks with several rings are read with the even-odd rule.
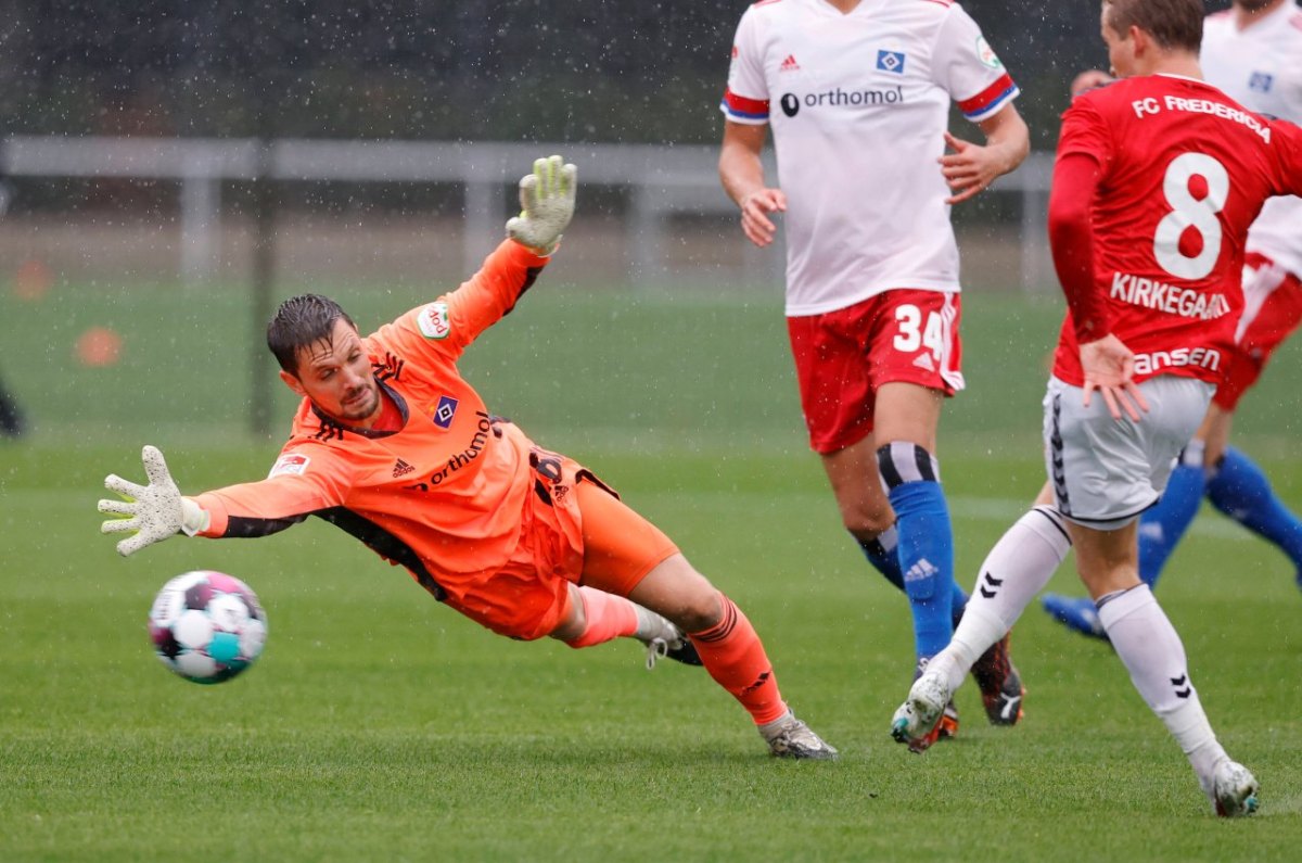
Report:
[[[316,515],[405,566],[440,600],[467,574],[505,564],[531,518],[536,448],[490,416],[456,362],[546,263],[506,240],[460,288],[366,336],[402,428],[344,426],[303,399],[266,480],[194,498],[211,514],[202,536],[266,536]]]

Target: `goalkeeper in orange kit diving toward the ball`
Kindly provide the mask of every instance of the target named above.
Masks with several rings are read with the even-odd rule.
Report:
[[[556,250],[574,184],[574,166],[539,159],[510,239],[479,272],[371,335],[326,297],[286,300],[267,344],[302,403],[267,478],[181,497],[145,447],[147,485],[104,481],[125,502],[100,512],[128,518],[103,531],[135,532],[117,545],[129,555],[177,533],[267,536],[315,515],[493,632],[574,648],[634,637],[648,664],[704,665],[773,755],[833,759],[783,700],[746,615],[591,471],[491,415],[457,372]]]

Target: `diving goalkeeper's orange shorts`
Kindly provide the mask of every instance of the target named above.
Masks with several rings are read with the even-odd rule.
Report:
[[[447,602],[513,639],[549,635],[570,613],[570,584],[628,596],[678,548],[591,471],[534,447],[533,490],[506,564],[444,585]]]

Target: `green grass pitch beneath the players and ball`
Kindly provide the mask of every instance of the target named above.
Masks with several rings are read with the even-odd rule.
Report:
[[[118,558],[94,502],[104,473],[141,475],[141,443],[191,491],[262,476],[277,443],[243,430],[238,295],[66,289],[0,309],[7,383],[36,422],[0,445],[0,860],[1295,859],[1302,597],[1277,551],[1204,512],[1160,589],[1213,725],[1263,783],[1256,817],[1213,819],[1112,652],[1035,607],[1014,637],[1023,725],[990,727],[965,687],[960,738],[910,756],[887,735],[907,611],[837,527],[776,299],[542,288],[467,374],[738,601],[842,760],[769,759],[707,675],[648,674],[635,644],[493,636],[322,523]],[[409,302],[345,299],[367,322]],[[941,445],[965,583],[1040,484],[1056,314],[967,299],[970,391]],[[111,369],[68,358],[96,322],[126,340]],[[1302,508],[1298,368],[1281,356],[1240,439]],[[263,658],[220,687],[169,674],[145,627],[168,578],[208,567],[271,621]],[[1069,567],[1051,589],[1078,591]]]

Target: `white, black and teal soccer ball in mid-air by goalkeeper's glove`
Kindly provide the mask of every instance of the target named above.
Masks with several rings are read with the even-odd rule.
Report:
[[[186,680],[221,683],[258,658],[267,613],[240,579],[212,570],[178,575],[150,609],[154,652]]]

